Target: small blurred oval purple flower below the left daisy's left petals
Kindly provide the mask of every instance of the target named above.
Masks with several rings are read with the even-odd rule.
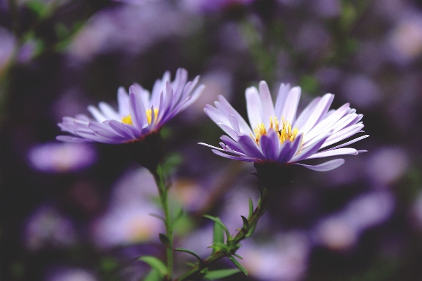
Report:
[[[44,143],[30,149],[31,166],[49,173],[79,171],[94,164],[94,148],[82,143]]]

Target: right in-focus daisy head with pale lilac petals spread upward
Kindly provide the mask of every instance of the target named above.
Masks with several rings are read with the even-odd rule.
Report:
[[[366,151],[345,146],[368,135],[335,145],[362,132],[364,124],[359,122],[363,115],[357,115],[349,103],[338,110],[328,110],[334,98],[331,93],[312,100],[298,116],[298,86],[291,88],[288,84],[281,84],[275,106],[265,81],[260,82],[259,92],[250,87],[245,96],[250,126],[225,98],[219,96],[215,107],[205,106],[205,113],[229,136],[221,137],[222,148],[201,145],[213,148],[212,152],[229,159],[257,164],[298,164],[315,171],[335,169],[345,160],[338,158],[319,165],[300,162]]]

